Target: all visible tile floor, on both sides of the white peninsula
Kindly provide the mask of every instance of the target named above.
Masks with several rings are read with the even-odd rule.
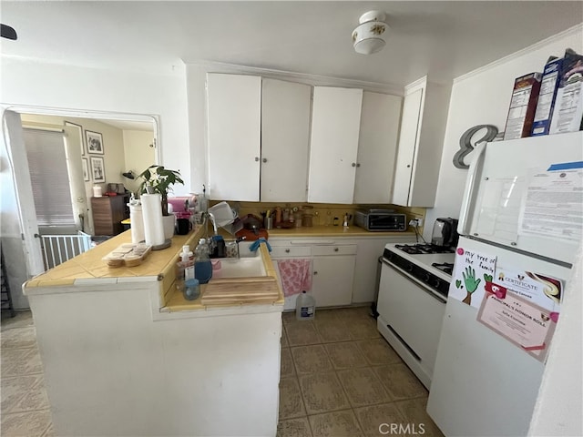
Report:
[[[3,313],[1,325],[0,435],[53,436],[31,314]],[[283,314],[278,437],[380,436],[381,423],[409,424],[402,435],[421,434],[423,424],[424,436],[442,436],[426,401],[367,308],[318,310],[313,321]]]

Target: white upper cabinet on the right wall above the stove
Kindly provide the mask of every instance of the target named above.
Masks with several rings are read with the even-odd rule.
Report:
[[[432,208],[444,147],[451,88],[426,77],[405,87],[394,172],[395,205]]]

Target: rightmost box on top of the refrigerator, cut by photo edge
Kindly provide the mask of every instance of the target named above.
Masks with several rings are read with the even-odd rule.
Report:
[[[583,56],[566,54],[559,77],[549,134],[583,129]]]

